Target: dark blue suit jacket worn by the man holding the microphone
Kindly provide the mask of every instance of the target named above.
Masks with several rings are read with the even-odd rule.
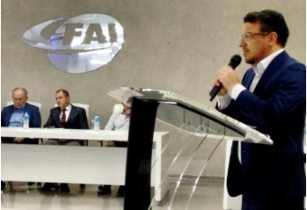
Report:
[[[254,70],[242,85],[249,88]],[[243,91],[224,114],[271,136],[273,145],[242,142],[242,164],[230,156],[228,190],[264,198],[291,198],[306,194],[303,130],[306,113],[306,67],[281,52],[264,71],[254,93]],[[233,179],[237,174],[241,183]]]

